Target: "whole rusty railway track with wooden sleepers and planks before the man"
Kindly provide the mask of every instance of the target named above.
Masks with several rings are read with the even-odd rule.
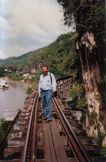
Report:
[[[4,147],[2,143],[0,162],[92,161],[71,128],[64,110],[61,100],[54,98],[54,119],[47,122],[42,115],[38,94],[34,93],[26,100],[26,106],[9,130],[5,138],[7,145]]]

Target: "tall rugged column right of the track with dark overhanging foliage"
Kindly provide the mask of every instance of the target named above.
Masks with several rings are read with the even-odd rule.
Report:
[[[97,136],[103,131],[99,121],[103,102],[100,92],[101,76],[104,75],[104,0],[57,0],[64,10],[64,23],[70,26],[76,23],[78,37],[76,50],[82,67],[82,77],[88,102],[89,115],[97,114],[97,123],[88,121],[88,133]],[[102,64],[102,65],[101,65]],[[101,66],[100,66],[101,65]],[[91,129],[90,129],[91,128]]]

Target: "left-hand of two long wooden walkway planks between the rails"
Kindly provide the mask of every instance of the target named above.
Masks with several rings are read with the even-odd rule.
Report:
[[[45,135],[45,144],[44,144],[45,162],[58,162],[55,154],[49,123],[44,123],[44,135]]]

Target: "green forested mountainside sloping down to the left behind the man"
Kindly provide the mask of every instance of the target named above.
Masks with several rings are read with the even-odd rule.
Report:
[[[47,64],[59,76],[77,75],[79,70],[78,56],[75,52],[76,33],[63,34],[50,45],[19,57],[10,57],[0,60],[0,67],[19,71],[36,70],[42,64]]]

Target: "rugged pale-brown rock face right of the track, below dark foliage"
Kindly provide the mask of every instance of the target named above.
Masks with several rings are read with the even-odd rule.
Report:
[[[82,77],[88,103],[86,130],[89,136],[97,137],[99,132],[104,132],[104,128],[100,122],[100,110],[103,106],[99,91],[101,76],[93,33],[88,31],[84,33],[76,46],[81,60]]]

